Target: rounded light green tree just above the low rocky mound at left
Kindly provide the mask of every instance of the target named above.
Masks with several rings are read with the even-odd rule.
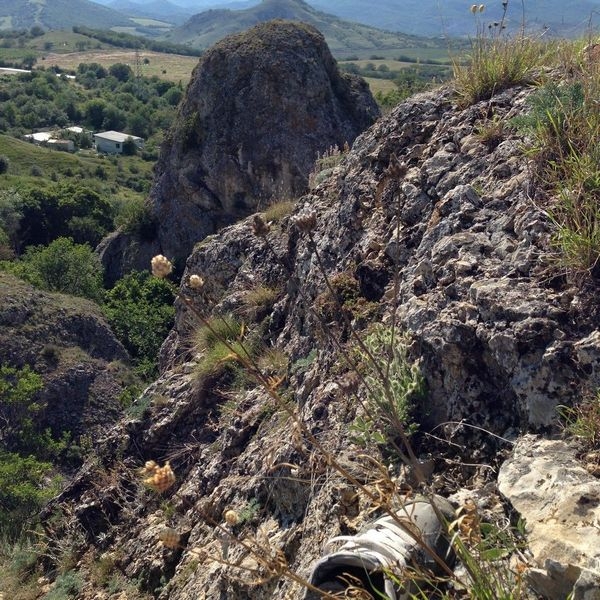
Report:
[[[83,296],[100,302],[102,264],[87,244],[58,238],[48,246],[27,248],[23,257],[7,265],[15,275],[52,292]]]

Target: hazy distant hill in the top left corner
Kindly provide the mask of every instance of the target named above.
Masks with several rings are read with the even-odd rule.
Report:
[[[2,0],[0,29],[70,29],[86,25],[101,29],[131,27],[127,16],[90,0]]]

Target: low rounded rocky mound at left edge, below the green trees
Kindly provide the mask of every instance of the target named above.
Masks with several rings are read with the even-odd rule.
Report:
[[[93,302],[44,292],[0,274],[0,364],[44,379],[36,414],[56,437],[95,438],[122,415],[129,357]]]

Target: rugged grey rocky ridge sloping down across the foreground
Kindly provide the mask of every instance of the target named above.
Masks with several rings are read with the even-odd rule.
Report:
[[[371,459],[389,458],[369,445],[371,459],[361,459],[352,440],[366,392],[338,352],[338,342],[352,344],[349,321],[362,334],[373,321],[410,334],[428,388],[413,411],[423,432],[415,447],[444,495],[461,486],[476,499],[478,489],[497,494],[497,466],[518,435],[550,432],[557,405],[598,388],[594,298],[552,268],[552,225],[523,160],[524,140],[509,129],[487,143],[478,134],[490,118],[521,113],[529,93],[513,88],[465,110],[450,89],[413,97],[299,200],[296,216],[314,220],[310,234],[283,217],[257,238],[250,218],[194,249],[182,294],[201,315],[242,315],[248,332],[285,353],[282,400],[260,387],[234,388],[227,376],[199,379],[203,351],[190,341],[199,324],[180,302],[162,376],[138,400],[143,416],[121,422],[102,466],[88,465],[52,505],[73,515],[64,532],[83,536],[82,568],[109,557],[163,600],[300,598],[294,582],[262,580],[239,546],[228,562],[253,575],[210,557],[222,556],[226,509],[243,515],[237,536],[280,549],[302,576],[328,538],[369,518],[369,500],[306,434],[365,486],[375,485]],[[324,272],[344,294],[341,309]],[[188,285],[192,274],[205,280],[200,291]],[[260,287],[275,296],[249,310]],[[169,459],[177,474],[162,498],[136,473],[150,459]],[[111,482],[102,492],[101,477]],[[165,526],[180,536],[174,547],[157,543]],[[86,597],[109,597],[91,585]]]

